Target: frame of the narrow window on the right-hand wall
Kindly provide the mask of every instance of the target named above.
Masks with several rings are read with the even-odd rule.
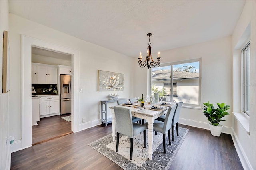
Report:
[[[246,51],[248,48],[250,48],[250,40],[248,41],[248,43],[246,43],[246,45],[241,49],[241,93],[242,93],[242,95],[241,95],[241,101],[242,101],[242,106],[241,106],[241,108],[242,108],[242,112],[243,113],[245,113],[246,115],[248,115],[248,116],[250,116],[250,110],[249,110],[249,112],[245,109],[245,107],[246,107],[246,102],[247,102],[247,100],[246,100],[246,96],[245,96],[245,91],[246,91],[246,76],[245,76],[245,73],[246,73],[246,69],[247,69],[247,67],[246,67],[246,57],[245,57],[245,55],[244,55],[244,51]],[[250,54],[250,52],[249,52],[249,54]],[[250,76],[250,61],[249,61],[249,76]],[[249,77],[249,81],[250,81],[250,77]],[[249,85],[249,89],[250,89],[250,85]],[[250,93],[249,93],[249,98],[250,98]],[[250,109],[250,101],[249,101],[249,109]]]

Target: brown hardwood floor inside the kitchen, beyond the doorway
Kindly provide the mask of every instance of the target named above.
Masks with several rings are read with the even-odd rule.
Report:
[[[68,115],[71,114],[41,118],[41,121],[37,122],[38,125],[32,126],[32,145],[73,133],[71,122],[61,118]]]

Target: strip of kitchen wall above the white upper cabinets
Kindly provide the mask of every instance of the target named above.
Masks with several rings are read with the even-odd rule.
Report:
[[[44,56],[44,55],[32,54],[31,58],[32,58],[31,59],[32,63],[71,66],[70,61],[65,61],[63,59],[57,59],[57,58],[53,58],[53,57],[47,57],[47,56]]]

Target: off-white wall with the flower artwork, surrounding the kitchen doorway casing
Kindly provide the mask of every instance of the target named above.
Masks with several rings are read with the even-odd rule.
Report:
[[[10,116],[12,117],[10,127],[17,136],[17,140],[21,139],[20,90],[22,89],[19,86],[21,83],[21,34],[78,51],[78,88],[83,89],[83,92],[78,94],[78,130],[88,128],[91,122],[94,125],[100,122],[100,100],[109,99],[108,95],[110,93],[118,93],[120,97],[132,97],[133,58],[85,42],[14,14],[9,15],[9,24],[10,45],[12,49],[15,49],[11,55],[13,62],[16,61],[11,68],[11,88],[17,89],[14,93],[10,93],[11,104],[15,106],[10,108]],[[124,91],[97,91],[98,70],[124,73]],[[86,118],[85,123],[82,123],[82,118]]]

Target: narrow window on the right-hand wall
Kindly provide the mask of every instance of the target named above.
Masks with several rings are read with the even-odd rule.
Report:
[[[242,109],[250,114],[250,43],[242,49]]]

